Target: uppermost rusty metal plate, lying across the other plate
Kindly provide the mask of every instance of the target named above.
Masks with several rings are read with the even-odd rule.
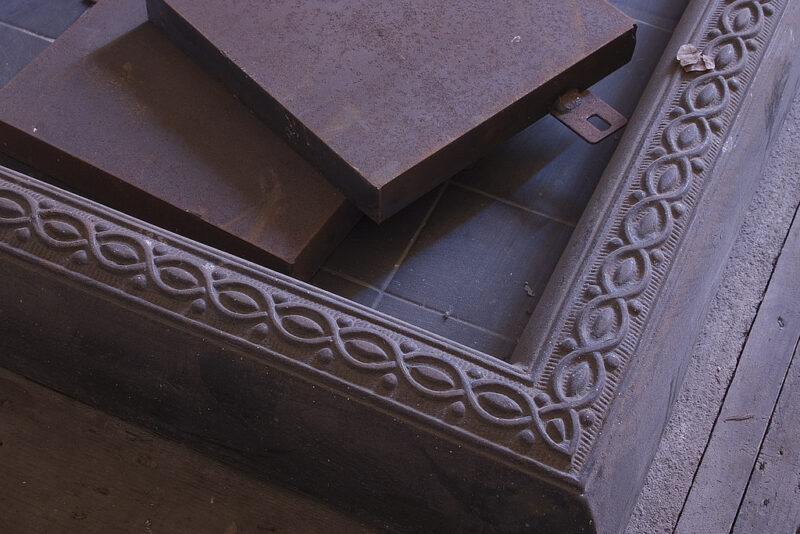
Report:
[[[148,0],[151,20],[380,221],[626,63],[604,0]]]

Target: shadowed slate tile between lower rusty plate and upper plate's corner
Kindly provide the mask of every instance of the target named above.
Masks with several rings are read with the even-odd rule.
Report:
[[[324,267],[383,288],[438,195],[436,189],[381,224],[362,218]]]

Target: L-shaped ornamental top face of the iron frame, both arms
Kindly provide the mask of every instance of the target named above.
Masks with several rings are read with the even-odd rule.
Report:
[[[566,289],[551,280],[563,298],[540,306],[517,365],[14,172],[0,176],[0,251],[580,491],[787,1],[692,4],[703,16],[684,17],[676,35],[713,54],[717,69],[684,73],[666,51],[656,72],[670,74],[649,90],[660,101],[637,119],[651,126],[618,149],[627,163],[613,180],[617,200],[594,215],[602,224]]]

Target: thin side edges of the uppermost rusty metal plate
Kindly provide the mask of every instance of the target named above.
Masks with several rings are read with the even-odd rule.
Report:
[[[365,215],[380,223],[474,162],[496,143],[547,115],[552,102],[562,92],[575,86],[585,88],[593,85],[628,63],[635,46],[636,25],[633,19],[607,0],[601,2],[618,16],[619,26],[614,31],[621,33],[604,44],[598,44],[587,55],[575,58],[571,65],[562,66],[563,69],[553,74],[549,81],[540,80],[538,86],[529,88],[504,109],[484,114],[469,129],[454,134],[455,137],[443,141],[443,144],[429,147],[430,150],[424,154],[418,153],[415,161],[407,161],[395,169],[388,180],[387,176],[379,176],[380,172],[375,174],[361,169],[364,165],[354,161],[350,157],[352,154],[346,155],[334,148],[323,139],[322,133],[306,126],[276,96],[266,91],[257,77],[248,74],[248,69],[237,66],[225,50],[217,48],[207,32],[197,25],[207,29],[207,24],[195,20],[193,15],[187,18],[180,6],[172,5],[169,0],[147,0],[147,5],[153,24],[223,81],[299,154],[324,170],[328,180]],[[585,21],[587,25],[592,23]],[[607,29],[611,31],[610,28]]]

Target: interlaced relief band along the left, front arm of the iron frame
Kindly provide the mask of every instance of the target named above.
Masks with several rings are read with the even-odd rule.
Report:
[[[541,435],[531,392],[494,370],[492,362],[478,368],[474,358],[314,302],[307,289],[226,269],[190,245],[117,223],[106,213],[111,210],[84,211],[75,206],[86,201],[26,182],[0,174],[0,248],[307,364],[425,418],[476,436],[500,436],[493,442],[501,447],[527,451]],[[43,195],[46,203],[38,202]],[[33,239],[15,240],[22,231]]]

